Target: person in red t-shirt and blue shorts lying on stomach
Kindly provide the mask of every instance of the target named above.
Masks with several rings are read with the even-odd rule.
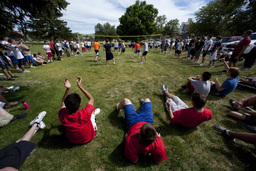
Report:
[[[124,109],[128,132],[125,134],[124,156],[133,163],[138,161],[138,154],[151,154],[154,161],[159,163],[167,156],[160,133],[153,124],[153,111],[149,99],[142,100],[140,113],[137,114],[131,101],[123,99],[117,104],[117,111]]]

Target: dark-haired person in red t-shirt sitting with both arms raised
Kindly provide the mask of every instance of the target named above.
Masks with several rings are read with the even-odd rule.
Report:
[[[67,88],[61,102],[59,119],[65,128],[66,135],[70,143],[84,144],[92,141],[96,135],[97,125],[95,116],[100,109],[94,110],[94,99],[82,87],[82,77],[77,77],[77,86],[89,100],[88,104],[80,110],[81,98],[78,94],[69,94],[71,85],[65,77],[64,86]]]

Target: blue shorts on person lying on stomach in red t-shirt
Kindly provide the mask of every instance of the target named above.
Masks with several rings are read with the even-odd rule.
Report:
[[[153,124],[153,110],[151,102],[145,102],[141,106],[140,113],[137,114],[132,104],[124,106],[124,115],[127,128],[129,129],[133,124],[141,121]]]

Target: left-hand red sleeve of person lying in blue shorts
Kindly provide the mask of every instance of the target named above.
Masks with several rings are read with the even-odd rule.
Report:
[[[131,162],[135,163],[138,160],[138,154],[134,148],[134,142],[132,142],[131,136],[126,139],[124,157]]]

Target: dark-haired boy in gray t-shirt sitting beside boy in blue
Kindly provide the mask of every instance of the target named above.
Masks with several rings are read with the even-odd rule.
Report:
[[[209,81],[210,78],[211,73],[209,72],[204,72],[200,78],[189,77],[187,83],[183,85],[182,88],[188,88],[190,94],[193,92],[198,92],[207,97],[211,90],[211,82]]]

